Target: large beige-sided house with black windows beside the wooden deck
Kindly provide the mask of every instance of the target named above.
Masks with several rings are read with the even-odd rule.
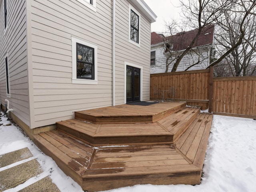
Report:
[[[0,99],[26,130],[75,111],[148,100],[143,0],[0,0]]]

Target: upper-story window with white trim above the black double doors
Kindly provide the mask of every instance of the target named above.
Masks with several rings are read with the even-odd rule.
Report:
[[[129,10],[129,42],[140,46],[140,14],[132,6]]]

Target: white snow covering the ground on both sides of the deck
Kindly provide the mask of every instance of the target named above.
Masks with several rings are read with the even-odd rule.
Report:
[[[20,128],[2,117],[0,155],[28,147],[44,172],[16,188],[18,191],[47,175],[62,192],[83,192],[48,156],[44,155]],[[256,120],[214,115],[202,183],[190,185],[136,185],[108,192],[256,192]],[[14,165],[10,165],[14,166]],[[8,166],[8,167],[10,167]],[[5,168],[0,168],[0,171]]]

